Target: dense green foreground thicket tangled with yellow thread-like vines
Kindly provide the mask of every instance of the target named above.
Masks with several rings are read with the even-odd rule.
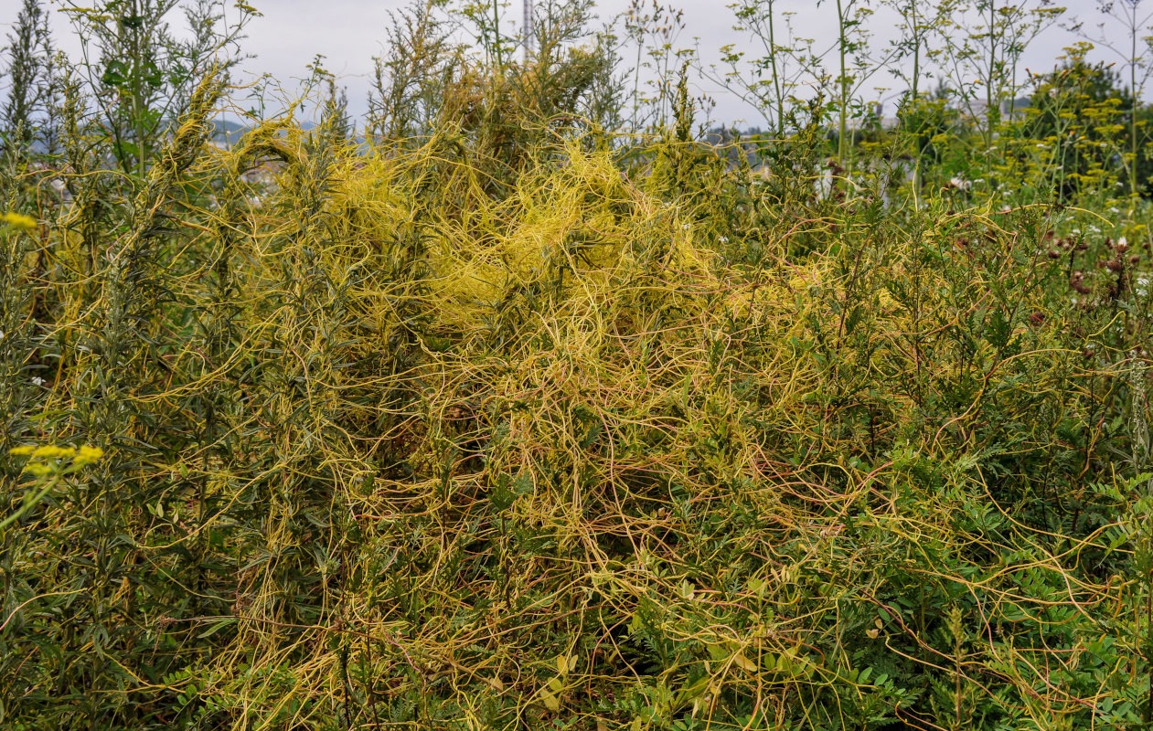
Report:
[[[59,337],[3,342],[58,364],[10,438],[105,458],[6,534],[17,728],[1136,713],[1145,325],[1071,304],[1048,209],[701,202],[579,141],[496,196],[455,133],[330,131],[157,173],[22,280]]]

